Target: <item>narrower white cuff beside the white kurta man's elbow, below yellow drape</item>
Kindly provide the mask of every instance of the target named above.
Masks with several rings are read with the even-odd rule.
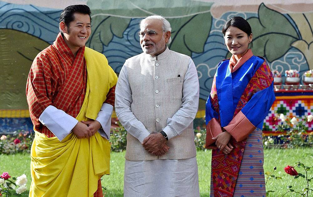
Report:
[[[101,129],[98,130],[102,137],[110,139],[110,130],[111,130],[111,116],[113,112],[113,106],[107,103],[104,103],[98,113],[96,120],[101,124]]]

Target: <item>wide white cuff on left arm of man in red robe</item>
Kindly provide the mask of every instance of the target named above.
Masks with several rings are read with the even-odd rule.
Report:
[[[62,141],[78,123],[74,117],[63,110],[49,105],[39,116],[39,121]]]

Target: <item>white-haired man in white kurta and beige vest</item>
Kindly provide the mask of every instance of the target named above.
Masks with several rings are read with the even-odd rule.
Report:
[[[116,115],[127,130],[124,196],[197,197],[197,69],[167,48],[165,18],[143,19],[138,34],[143,53],[126,60],[115,89]]]

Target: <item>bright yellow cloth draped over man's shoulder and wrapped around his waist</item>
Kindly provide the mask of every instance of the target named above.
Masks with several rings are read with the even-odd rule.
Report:
[[[88,78],[85,97],[76,116],[79,121],[97,117],[106,95],[117,81],[104,55],[89,48],[85,48],[83,54]],[[74,83],[74,80],[67,81]],[[68,86],[67,83],[63,85]],[[58,94],[57,98],[66,103],[71,97]],[[58,103],[54,106],[58,108]],[[91,197],[97,190],[98,180],[110,173],[110,143],[98,132],[89,139],[78,139],[70,133],[60,142],[56,137],[49,138],[36,131],[31,149],[31,172],[33,181],[29,196]]]

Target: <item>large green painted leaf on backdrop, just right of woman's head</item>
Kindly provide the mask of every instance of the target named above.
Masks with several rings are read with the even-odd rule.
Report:
[[[282,57],[299,36],[290,21],[281,13],[259,6],[259,18],[249,18],[253,33],[254,55],[266,57],[269,62]],[[284,28],[279,28],[280,26]]]

